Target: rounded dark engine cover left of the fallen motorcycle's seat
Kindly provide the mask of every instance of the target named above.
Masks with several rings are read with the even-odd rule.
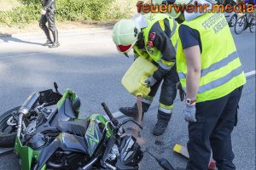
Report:
[[[44,134],[36,133],[29,141],[26,143],[32,150],[38,150],[46,144],[47,139]]]

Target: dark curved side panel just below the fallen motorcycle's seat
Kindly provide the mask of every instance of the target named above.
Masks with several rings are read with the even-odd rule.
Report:
[[[74,151],[88,154],[87,144],[84,138],[69,133],[60,133],[54,141],[41,151],[38,158],[38,169],[44,167],[45,163],[56,150]]]

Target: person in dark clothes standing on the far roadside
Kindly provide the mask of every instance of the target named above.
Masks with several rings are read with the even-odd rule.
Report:
[[[58,41],[58,31],[55,27],[55,0],[43,0],[44,8],[41,11],[41,20],[39,26],[44,31],[47,41],[44,43],[44,46],[49,46],[49,48],[57,48],[60,46]],[[46,22],[48,22],[49,28],[46,26]],[[49,30],[52,32],[54,41],[52,42],[49,36]]]

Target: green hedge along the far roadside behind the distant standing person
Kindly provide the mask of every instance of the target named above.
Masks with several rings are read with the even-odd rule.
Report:
[[[129,2],[129,3],[127,3]],[[57,20],[110,20],[128,17],[137,0],[56,0]],[[24,26],[38,20],[41,0],[20,0],[23,5],[0,11],[0,24]]]

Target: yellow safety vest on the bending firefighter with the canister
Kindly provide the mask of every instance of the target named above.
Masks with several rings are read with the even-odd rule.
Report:
[[[170,28],[171,28],[171,38],[170,39],[172,41],[172,45],[175,46],[177,43],[177,38],[178,38],[178,33],[177,33],[178,24],[167,14],[149,13],[149,14],[144,14],[144,17],[148,22],[148,26],[143,28],[143,30],[142,30],[145,47],[144,47],[144,49],[139,49],[139,48],[137,48],[137,46],[134,46],[133,48],[139,56],[142,56],[143,58],[151,60],[151,61],[154,60],[154,62],[158,63],[162,57],[160,50],[154,47],[154,48],[152,48],[153,49],[152,52],[154,52],[154,53],[148,52],[147,42],[148,42],[149,31],[151,30],[152,26],[154,26],[154,24],[156,22],[159,22],[161,29],[163,31],[165,31],[166,28],[165,28],[164,20],[166,20],[166,19],[169,20],[169,24],[170,24]],[[166,61],[163,61],[163,63],[168,65],[168,63]]]

